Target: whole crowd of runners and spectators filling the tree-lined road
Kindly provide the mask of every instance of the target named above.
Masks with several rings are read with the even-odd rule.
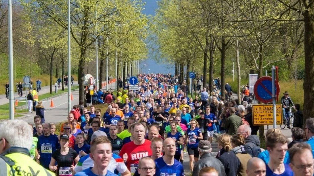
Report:
[[[138,80],[138,91],[127,84],[117,96],[97,91],[105,112],[75,105],[59,135],[41,116],[34,116],[35,127],[0,122],[0,175],[183,176],[187,170],[192,176],[313,175],[314,118],[304,129],[291,129],[292,141],[277,128],[268,130],[261,148],[252,107],[225,101],[219,81],[213,92],[203,88],[200,97],[189,97],[177,76],[138,75]],[[282,102],[288,107],[290,99]],[[212,152],[213,137],[218,153]]]

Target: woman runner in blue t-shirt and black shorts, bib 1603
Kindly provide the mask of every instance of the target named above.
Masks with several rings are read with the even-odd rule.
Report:
[[[184,143],[187,144],[187,153],[189,154],[189,165],[190,169],[193,170],[193,162],[198,162],[198,141],[203,139],[201,130],[196,127],[196,120],[190,121],[191,128],[187,129],[187,135],[185,136]]]

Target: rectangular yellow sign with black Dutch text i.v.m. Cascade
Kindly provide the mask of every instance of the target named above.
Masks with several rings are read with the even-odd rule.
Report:
[[[273,125],[273,105],[252,106],[253,125]],[[282,124],[282,105],[276,104],[276,124]]]

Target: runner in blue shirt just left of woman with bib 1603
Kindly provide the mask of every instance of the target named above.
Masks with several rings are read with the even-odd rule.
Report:
[[[167,133],[167,137],[172,138],[176,142],[176,154],[175,159],[180,161],[181,157],[181,146],[183,145],[183,136],[176,130],[176,122],[170,123],[171,132]]]

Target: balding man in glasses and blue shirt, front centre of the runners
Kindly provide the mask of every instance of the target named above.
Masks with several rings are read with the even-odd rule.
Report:
[[[176,153],[176,143],[171,138],[166,138],[163,143],[165,155],[155,159],[157,176],[184,176],[182,164],[174,158]]]

